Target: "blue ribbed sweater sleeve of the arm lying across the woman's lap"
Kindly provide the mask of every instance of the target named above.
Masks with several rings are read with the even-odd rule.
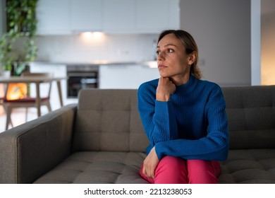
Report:
[[[228,156],[228,123],[224,96],[215,88],[209,95],[204,115],[207,117],[207,135],[195,140],[176,139],[156,144],[159,159],[176,156],[184,159],[224,161]]]

